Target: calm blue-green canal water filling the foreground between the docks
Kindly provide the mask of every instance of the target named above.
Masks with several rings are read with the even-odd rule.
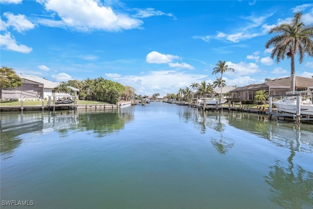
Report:
[[[0,118],[1,209],[313,208],[313,125],[161,102]]]

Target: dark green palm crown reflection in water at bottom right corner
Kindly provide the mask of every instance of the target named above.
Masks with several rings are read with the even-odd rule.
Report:
[[[281,161],[276,161],[275,165],[270,167],[265,182],[271,186],[270,200],[286,209],[301,209],[303,206],[313,207],[313,172],[304,170],[297,166],[294,171],[293,157],[295,151],[292,149],[287,159],[289,166],[284,167]]]

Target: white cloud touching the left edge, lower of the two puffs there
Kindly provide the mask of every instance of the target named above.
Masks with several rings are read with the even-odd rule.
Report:
[[[24,54],[27,54],[32,51],[31,47],[17,44],[16,40],[9,32],[6,32],[4,35],[0,34],[0,46],[7,50],[18,51]]]

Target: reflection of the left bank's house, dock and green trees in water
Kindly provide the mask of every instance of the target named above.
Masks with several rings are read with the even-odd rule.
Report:
[[[21,135],[45,135],[58,132],[61,138],[71,131],[91,131],[94,137],[112,134],[132,120],[130,112],[111,111],[58,111],[58,112],[19,112],[1,113],[0,153],[10,155],[22,144]]]

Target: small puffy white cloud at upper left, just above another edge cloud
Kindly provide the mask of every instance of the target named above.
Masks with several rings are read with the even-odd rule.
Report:
[[[5,24],[6,27],[12,26],[20,33],[25,30],[33,29],[35,27],[33,23],[26,19],[25,15],[14,15],[11,12],[5,12],[3,13],[3,16],[8,19]]]

